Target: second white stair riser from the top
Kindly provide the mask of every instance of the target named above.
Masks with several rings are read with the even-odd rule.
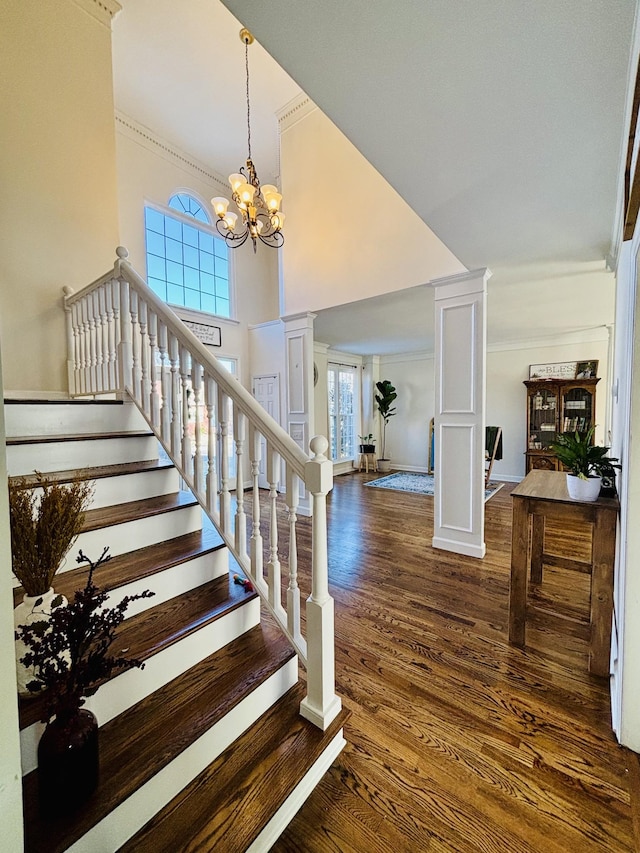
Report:
[[[7,446],[7,472],[16,476],[157,458],[158,442],[153,435],[13,444]]]

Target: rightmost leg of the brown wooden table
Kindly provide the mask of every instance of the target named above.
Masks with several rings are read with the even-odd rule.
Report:
[[[594,675],[609,675],[616,522],[614,510],[599,510],[593,525],[589,672]]]

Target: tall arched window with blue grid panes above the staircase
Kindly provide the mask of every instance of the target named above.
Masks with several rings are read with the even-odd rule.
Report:
[[[229,250],[197,198],[176,193],[144,209],[147,281],[165,302],[231,316]]]

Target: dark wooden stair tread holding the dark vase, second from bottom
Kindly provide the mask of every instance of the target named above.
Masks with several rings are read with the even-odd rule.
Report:
[[[26,853],[62,853],[294,654],[279,631],[257,626],[108,722],[100,730],[100,785],[71,815],[41,819],[37,771],[29,773]]]

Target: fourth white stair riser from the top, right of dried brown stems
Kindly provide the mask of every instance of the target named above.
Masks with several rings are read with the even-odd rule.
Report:
[[[92,560],[97,560],[102,549],[107,545],[109,553],[115,557],[117,554],[126,554],[128,551],[146,548],[147,545],[155,545],[156,542],[163,542],[165,539],[175,539],[176,536],[193,533],[201,527],[202,510],[196,504],[171,512],[163,512],[160,515],[152,515],[149,518],[112,524],[109,527],[101,527],[99,530],[89,530],[78,536],[58,571],[67,572],[77,568],[76,557],[80,549]]]

